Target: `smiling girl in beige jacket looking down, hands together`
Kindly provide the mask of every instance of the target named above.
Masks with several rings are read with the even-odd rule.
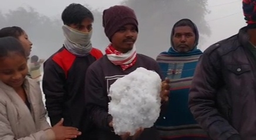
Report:
[[[42,93],[28,73],[25,51],[14,37],[0,38],[0,139],[65,140],[81,133],[46,121]]]

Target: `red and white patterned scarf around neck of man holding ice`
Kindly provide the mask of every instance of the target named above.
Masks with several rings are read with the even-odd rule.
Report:
[[[132,67],[137,61],[137,53],[136,48],[133,46],[133,49],[128,51],[127,53],[121,53],[112,47],[112,44],[109,44],[106,48],[106,55],[109,61],[111,61],[114,65],[120,65],[120,67],[124,70]]]

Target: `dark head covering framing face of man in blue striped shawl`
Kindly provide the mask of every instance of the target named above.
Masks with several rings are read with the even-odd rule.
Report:
[[[197,26],[194,22],[192,22],[190,19],[181,19],[178,22],[176,22],[173,26],[173,30],[171,31],[171,38],[173,38],[174,35],[174,30],[176,27],[181,27],[181,26],[188,26],[191,27],[193,30],[194,34],[196,35],[196,41],[195,41],[195,46],[197,46],[198,41],[199,41],[199,33]],[[173,46],[173,40],[171,39],[171,46]]]

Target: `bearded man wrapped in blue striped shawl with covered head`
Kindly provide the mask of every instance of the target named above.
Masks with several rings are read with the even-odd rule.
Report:
[[[170,100],[156,123],[161,139],[207,139],[188,108],[188,93],[199,57],[199,34],[189,19],[176,22],[171,31],[171,47],[157,56],[161,73],[170,79]]]

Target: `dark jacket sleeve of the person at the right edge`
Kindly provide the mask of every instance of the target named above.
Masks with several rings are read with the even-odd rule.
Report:
[[[198,61],[191,84],[189,102],[191,113],[212,139],[227,140],[238,134],[217,110],[217,89],[221,85],[220,56],[217,53],[204,53]]]

